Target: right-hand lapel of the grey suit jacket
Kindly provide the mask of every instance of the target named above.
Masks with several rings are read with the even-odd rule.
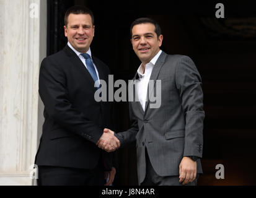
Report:
[[[156,64],[153,67],[151,76],[149,80],[154,80],[154,86],[149,87],[148,86],[148,100],[146,101],[146,105],[145,105],[145,113],[148,110],[148,105],[149,105],[149,98],[150,96],[154,93],[154,87],[156,85],[156,80],[157,77],[159,75],[159,72],[161,71],[162,65],[164,64],[164,61],[166,60],[166,53],[164,53],[164,51],[162,51],[162,53],[160,54],[159,58],[156,61]]]

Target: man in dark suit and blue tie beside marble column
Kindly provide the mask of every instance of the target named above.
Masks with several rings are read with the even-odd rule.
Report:
[[[38,185],[104,185],[104,173],[108,185],[115,177],[113,154],[95,144],[102,138],[117,146],[117,138],[103,132],[113,127],[112,104],[95,101],[94,93],[97,80],[107,82],[110,71],[90,51],[95,28],[92,12],[74,6],[64,20],[68,45],[43,59],[40,67],[45,123],[35,157]]]

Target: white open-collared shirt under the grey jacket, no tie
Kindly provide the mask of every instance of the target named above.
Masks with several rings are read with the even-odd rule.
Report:
[[[148,100],[147,93],[148,93],[149,79],[150,79],[153,67],[156,64],[156,61],[159,58],[161,53],[162,53],[162,50],[160,49],[160,51],[156,54],[156,56],[154,56],[154,58],[152,58],[152,60],[146,64],[144,74],[143,74],[142,63],[139,66],[139,69],[137,71],[139,75],[139,79],[136,80],[136,90],[137,90],[139,102],[141,103],[141,106],[144,111],[145,111],[146,100]]]

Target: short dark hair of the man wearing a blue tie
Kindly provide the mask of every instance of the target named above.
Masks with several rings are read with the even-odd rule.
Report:
[[[64,16],[64,24],[67,27],[68,25],[68,16],[69,14],[89,14],[90,17],[92,18],[92,25],[94,25],[94,14],[92,11],[90,11],[89,8],[85,6],[73,6],[69,7],[69,9],[66,11],[66,14]]]

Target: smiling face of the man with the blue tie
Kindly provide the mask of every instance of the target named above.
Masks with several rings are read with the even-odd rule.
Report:
[[[64,26],[65,37],[74,49],[86,53],[94,37],[94,25],[89,14],[69,14],[68,27]]]

